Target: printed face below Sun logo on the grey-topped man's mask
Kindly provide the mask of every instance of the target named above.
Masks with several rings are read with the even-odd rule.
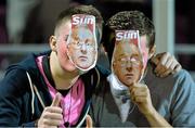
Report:
[[[120,82],[130,86],[138,82],[142,75],[142,56],[133,43],[115,46],[113,69]]]

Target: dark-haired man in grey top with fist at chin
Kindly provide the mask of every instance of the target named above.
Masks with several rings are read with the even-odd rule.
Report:
[[[94,126],[195,126],[195,84],[188,73],[181,69],[165,78],[154,74],[153,23],[142,12],[125,11],[112,16],[106,26],[104,47],[112,74],[101,79],[93,94],[90,114]],[[117,42],[117,30],[139,30],[140,47]]]

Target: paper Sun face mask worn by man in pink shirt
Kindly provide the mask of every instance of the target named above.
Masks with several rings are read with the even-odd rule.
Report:
[[[93,68],[98,60],[95,17],[75,14],[67,39],[67,54],[72,63],[82,72]]]

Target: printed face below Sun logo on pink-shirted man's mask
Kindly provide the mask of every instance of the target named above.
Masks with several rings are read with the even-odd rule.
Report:
[[[87,27],[77,27],[73,30],[68,44],[72,61],[80,68],[87,69],[95,62],[95,40]]]

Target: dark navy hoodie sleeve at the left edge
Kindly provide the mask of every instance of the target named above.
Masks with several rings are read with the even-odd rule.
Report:
[[[27,84],[24,69],[12,69],[5,74],[0,82],[0,126],[13,127],[23,124],[22,115],[25,113],[23,101]]]

